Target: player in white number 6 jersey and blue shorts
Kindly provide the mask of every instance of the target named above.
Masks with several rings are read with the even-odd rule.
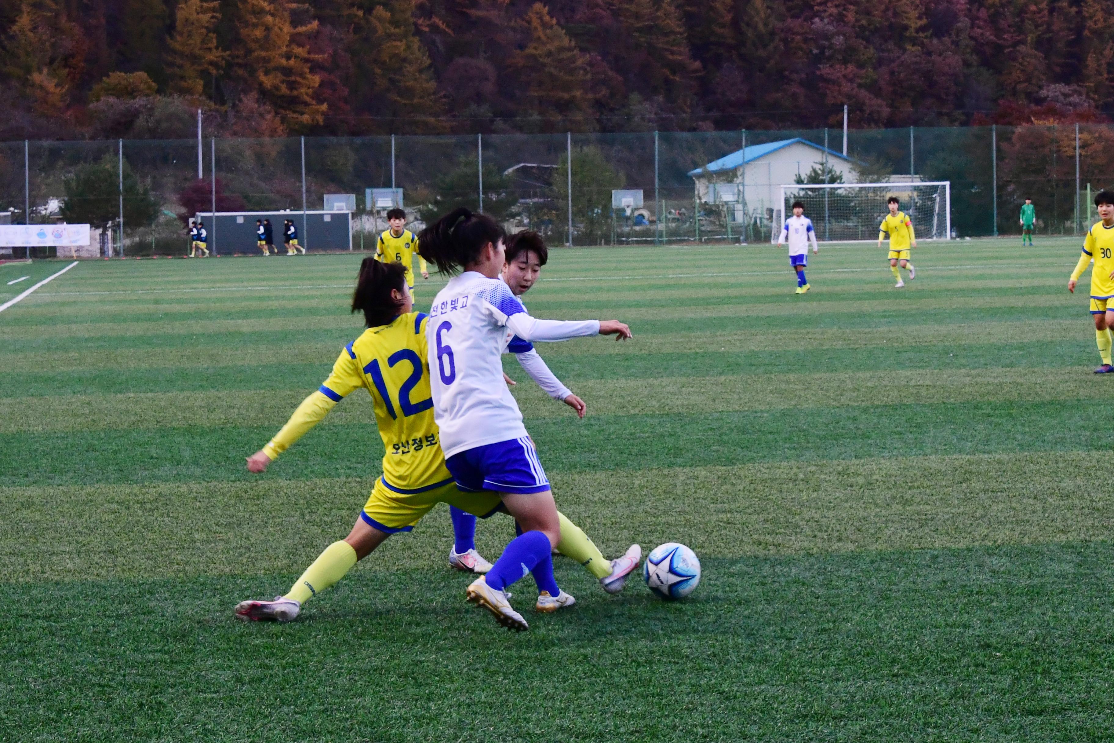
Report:
[[[532,342],[596,334],[628,339],[631,329],[615,320],[561,322],[528,315],[499,278],[502,241],[502,227],[492,218],[458,208],[426,227],[418,244],[422,257],[453,276],[433,299],[426,327],[446,465],[461,490],[498,492],[522,530],[491,570],[468,587],[468,600],[491,612],[499,624],[521,630],[528,625],[505,589],[526,573],[534,575],[539,592],[557,596],[558,603],[573,602],[553,574],[551,550],[560,541],[560,527],[549,480],[502,377],[508,331]],[[629,560],[626,574],[637,564],[637,558]]]

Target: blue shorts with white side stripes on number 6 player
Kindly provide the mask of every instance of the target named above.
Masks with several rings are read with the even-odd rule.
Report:
[[[525,437],[461,451],[444,463],[457,487],[466,492],[531,493],[550,489],[538,450]]]

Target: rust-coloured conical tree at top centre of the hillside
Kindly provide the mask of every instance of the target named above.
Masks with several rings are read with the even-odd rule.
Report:
[[[522,23],[529,41],[508,60],[525,90],[522,107],[536,116],[558,118],[548,123],[550,129],[593,128],[595,101],[587,55],[540,2],[534,3]],[[559,120],[564,117],[570,120]]]

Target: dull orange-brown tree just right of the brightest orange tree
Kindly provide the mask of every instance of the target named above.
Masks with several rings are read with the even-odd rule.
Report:
[[[364,19],[363,65],[373,81],[374,116],[390,117],[392,130],[443,130],[444,101],[437,89],[429,53],[414,32],[413,0],[389,0]],[[404,119],[411,119],[405,123]]]

